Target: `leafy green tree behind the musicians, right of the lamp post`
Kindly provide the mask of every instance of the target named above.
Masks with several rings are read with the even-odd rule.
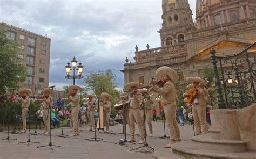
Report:
[[[117,112],[114,110],[114,104],[118,102],[119,91],[116,90],[117,84],[116,75],[112,73],[111,69],[103,71],[90,71],[89,75],[84,79],[85,82],[85,91],[94,93],[95,95],[100,95],[102,92],[109,93],[113,100],[111,101],[111,114],[115,115]],[[100,90],[102,89],[102,90]]]

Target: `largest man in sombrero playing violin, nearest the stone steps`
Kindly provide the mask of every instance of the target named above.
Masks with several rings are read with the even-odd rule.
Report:
[[[164,107],[166,123],[170,134],[170,141],[165,148],[171,148],[173,143],[181,141],[180,131],[176,121],[176,90],[173,84],[178,81],[179,76],[176,71],[167,66],[158,68],[156,76],[158,79],[164,79],[165,84],[163,88],[159,88],[156,82],[152,82],[153,87],[150,90],[161,95],[161,103]]]

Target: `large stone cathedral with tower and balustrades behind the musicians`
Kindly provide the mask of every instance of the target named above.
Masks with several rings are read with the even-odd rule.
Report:
[[[162,0],[161,46],[139,50],[135,62],[126,58],[124,82],[149,85],[161,66],[188,76],[202,77],[204,66],[212,67],[210,50],[217,56],[234,55],[256,42],[255,0],[196,0],[196,21],[188,0]],[[160,4],[159,4],[160,5]]]

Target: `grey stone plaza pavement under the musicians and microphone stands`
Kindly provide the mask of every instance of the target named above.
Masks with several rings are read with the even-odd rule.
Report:
[[[164,135],[164,127],[162,122],[152,122],[153,124],[153,137],[147,137],[147,143],[150,147],[155,149],[155,153],[158,154],[158,158],[175,158],[172,157],[171,149],[164,148],[165,144],[168,143],[169,139],[155,139],[154,137]],[[147,127],[147,126],[146,126]],[[61,147],[52,147],[53,151],[49,146],[37,148],[37,146],[44,146],[49,144],[49,135],[30,135],[30,140],[38,143],[20,143],[28,141],[27,134],[9,134],[11,139],[10,143],[7,140],[0,141],[0,158],[156,158],[154,153],[140,153],[139,150],[130,151],[132,148],[137,148],[143,146],[143,144],[138,144],[139,137],[136,137],[136,144],[127,143],[127,146],[121,146],[114,144],[114,142],[119,142],[120,138],[124,138],[124,134],[106,134],[102,131],[97,132],[98,138],[103,138],[106,142],[93,142],[84,139],[93,138],[94,132],[85,131],[88,127],[80,127],[82,130],[79,136],[72,138],[59,138],[54,135],[62,133],[62,129],[52,129],[51,142],[55,145],[60,145]],[[114,133],[122,132],[122,125],[116,125],[110,127],[111,131]],[[147,128],[146,128],[147,129]],[[31,132],[34,132],[31,129]],[[43,130],[38,130],[38,132],[43,132]],[[130,131],[127,130],[127,133]],[[181,139],[189,140],[193,136],[192,125],[180,126]],[[28,132],[27,132],[28,133]],[[138,129],[136,127],[136,133]],[[71,134],[69,128],[64,127],[64,134]],[[166,135],[167,135],[166,130]],[[7,134],[0,132],[0,139],[6,139]],[[130,135],[127,135],[127,140]],[[149,150],[148,148],[145,148]],[[159,155],[160,154],[160,155]],[[161,157],[163,154],[163,157]],[[170,154],[170,156],[169,156]],[[159,157],[160,156],[160,157]]]

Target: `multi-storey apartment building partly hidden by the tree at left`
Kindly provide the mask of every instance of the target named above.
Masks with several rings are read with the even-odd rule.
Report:
[[[20,86],[31,90],[38,86],[37,94],[49,86],[51,39],[6,23],[2,23],[2,26],[6,30],[6,37],[21,45],[18,56],[27,68],[27,77]]]

